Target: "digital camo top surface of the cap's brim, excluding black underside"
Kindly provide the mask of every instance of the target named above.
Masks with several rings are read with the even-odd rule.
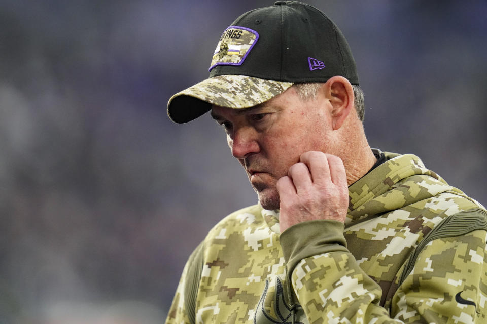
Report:
[[[249,108],[263,103],[293,85],[292,82],[264,80],[246,75],[221,75],[205,79],[196,85],[173,95],[167,103],[178,96],[190,96],[211,104],[229,108]],[[191,107],[171,107],[191,109]]]

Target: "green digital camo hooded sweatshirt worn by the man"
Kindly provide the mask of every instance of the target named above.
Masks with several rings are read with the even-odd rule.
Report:
[[[411,154],[349,187],[345,224],[251,206],[196,248],[166,323],[486,323],[487,213]]]

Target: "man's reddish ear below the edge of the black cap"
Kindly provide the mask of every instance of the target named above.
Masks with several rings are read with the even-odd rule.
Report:
[[[328,79],[322,89],[326,91],[325,95],[332,106],[332,125],[336,131],[354,109],[354,89],[349,80],[339,75]]]

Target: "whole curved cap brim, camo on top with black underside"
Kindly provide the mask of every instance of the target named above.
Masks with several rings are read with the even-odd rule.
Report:
[[[272,99],[292,85],[292,82],[246,75],[215,76],[173,95],[167,103],[167,114],[175,123],[187,123],[210,111],[212,105],[249,108]]]

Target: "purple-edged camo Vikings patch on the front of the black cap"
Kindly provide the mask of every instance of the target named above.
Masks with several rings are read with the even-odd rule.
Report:
[[[213,54],[211,71],[217,65],[241,65],[259,39],[255,30],[230,26],[223,32]]]

